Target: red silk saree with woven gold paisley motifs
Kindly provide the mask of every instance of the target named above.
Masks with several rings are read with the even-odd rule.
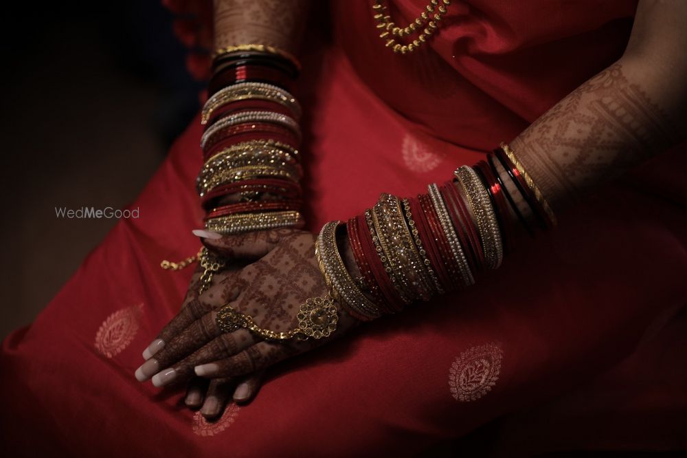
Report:
[[[311,32],[298,91],[311,230],[515,137],[620,57],[635,10],[455,2],[415,58],[384,49],[370,3],[311,18],[334,25]],[[409,20],[425,2],[394,3]],[[684,149],[599,190],[470,290],[274,368],[252,404],[209,423],[133,377],[191,274],[159,261],[199,248],[200,135],[196,120],[133,204],[140,218],[3,342],[8,456],[413,455],[455,437],[479,455],[687,448]]]

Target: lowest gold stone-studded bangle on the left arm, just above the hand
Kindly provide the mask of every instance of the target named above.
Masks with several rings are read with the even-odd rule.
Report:
[[[286,226],[302,227],[300,212],[289,210],[282,212],[248,213],[212,218],[205,221],[205,228],[219,234],[238,234],[251,230],[283,228]]]

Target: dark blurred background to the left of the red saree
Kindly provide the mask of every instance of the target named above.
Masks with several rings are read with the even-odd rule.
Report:
[[[198,109],[202,87],[160,0],[10,2],[0,33],[3,259],[0,338],[30,323]]]

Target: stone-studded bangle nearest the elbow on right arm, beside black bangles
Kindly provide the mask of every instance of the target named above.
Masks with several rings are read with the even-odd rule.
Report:
[[[477,220],[477,232],[482,239],[486,267],[496,269],[504,259],[504,246],[487,190],[472,167],[462,166],[454,175],[463,186],[468,204]]]

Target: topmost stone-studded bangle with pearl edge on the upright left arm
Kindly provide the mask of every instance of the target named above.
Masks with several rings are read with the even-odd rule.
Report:
[[[301,107],[289,91],[267,83],[248,82],[227,86],[207,99],[201,111],[201,124],[207,124],[212,113],[223,105],[247,99],[271,100],[290,109],[296,119],[301,117]]]

